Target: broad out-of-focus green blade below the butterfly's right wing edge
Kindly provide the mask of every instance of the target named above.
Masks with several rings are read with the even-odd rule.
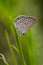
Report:
[[[32,44],[33,42],[32,42],[31,30],[29,30],[29,37],[27,35],[26,35],[26,37],[27,37],[27,40],[29,42],[29,44],[27,44],[27,47],[28,47],[28,54],[29,54],[29,57],[30,57],[31,65],[37,65],[34,54],[33,54],[33,44]]]

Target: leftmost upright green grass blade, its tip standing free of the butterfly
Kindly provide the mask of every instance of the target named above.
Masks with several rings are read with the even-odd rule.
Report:
[[[12,55],[12,59],[14,61],[14,65],[18,65],[17,59],[15,57],[15,54],[14,54],[14,51],[13,51],[13,48],[12,48],[12,44],[11,44],[11,41],[10,41],[10,38],[9,38],[9,35],[8,35],[7,31],[5,31],[5,36],[6,36],[6,39],[7,39],[7,42],[8,42],[8,46],[9,46],[9,49],[10,49],[10,52],[11,52],[11,55]]]

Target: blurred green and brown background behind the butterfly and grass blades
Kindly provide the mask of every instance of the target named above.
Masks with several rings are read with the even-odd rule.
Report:
[[[36,57],[37,65],[43,65],[43,10],[41,0],[0,0],[0,53],[3,53],[10,65],[14,65],[12,57],[7,45],[4,30],[10,31],[11,20],[19,16],[34,16],[37,21],[36,24],[31,28],[32,32],[32,43],[33,53]],[[10,33],[10,32],[9,32]],[[26,32],[29,36],[29,31]],[[14,39],[11,40],[15,44]],[[22,37],[21,37],[22,38]],[[23,38],[22,38],[23,39]],[[25,39],[23,39],[25,41]],[[25,41],[26,42],[26,41]],[[24,56],[26,56],[25,42],[23,43]],[[16,53],[16,51],[15,51]],[[18,64],[21,65],[20,58],[16,53]],[[27,59],[27,57],[26,57]],[[29,60],[27,60],[27,64]],[[0,65],[4,65],[4,62],[0,60]]]

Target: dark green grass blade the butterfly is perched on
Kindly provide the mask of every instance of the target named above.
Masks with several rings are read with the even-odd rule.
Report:
[[[21,58],[21,61],[22,61],[22,65],[26,65],[26,61],[24,59],[24,55],[23,55],[23,51],[22,51],[22,45],[19,42],[18,34],[17,34],[15,27],[13,28],[13,26],[11,26],[11,31],[12,31],[14,40],[15,40],[17,46],[18,46],[18,49],[19,49],[19,55],[20,55],[20,58]]]

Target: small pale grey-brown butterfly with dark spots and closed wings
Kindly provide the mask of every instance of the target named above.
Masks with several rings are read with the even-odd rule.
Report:
[[[36,22],[32,16],[21,15],[14,20],[14,25],[17,31],[22,35]]]

